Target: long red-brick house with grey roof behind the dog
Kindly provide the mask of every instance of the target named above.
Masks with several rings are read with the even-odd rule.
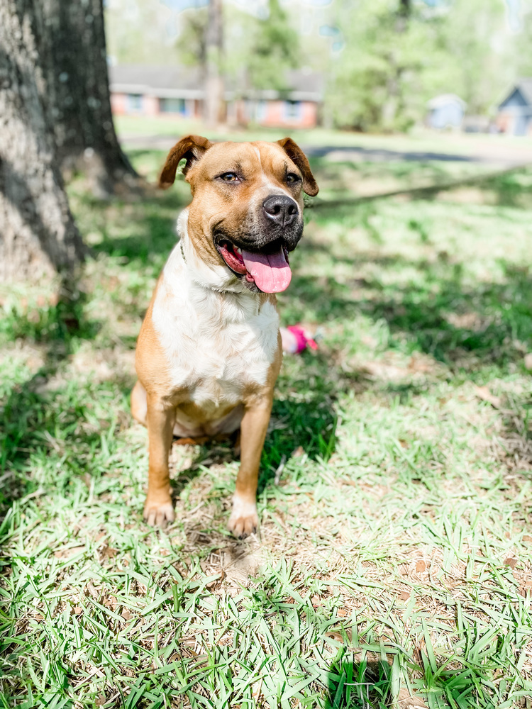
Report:
[[[117,116],[203,114],[204,82],[197,67],[118,65],[109,67],[111,108]],[[287,72],[289,89],[249,90],[228,84],[228,123],[272,128],[314,128],[323,101],[323,77],[303,69]]]

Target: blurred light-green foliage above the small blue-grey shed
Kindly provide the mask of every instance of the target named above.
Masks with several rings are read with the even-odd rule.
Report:
[[[345,4],[336,23],[345,45],[331,63],[326,106],[340,126],[405,130],[440,93],[485,113],[509,80],[500,0],[414,3],[407,16],[395,0]]]

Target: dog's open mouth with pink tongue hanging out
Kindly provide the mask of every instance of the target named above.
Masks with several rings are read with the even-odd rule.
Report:
[[[228,239],[216,243],[216,248],[231,271],[245,277],[263,293],[280,293],[288,288],[292,271],[288,250],[282,241],[268,245],[267,252],[247,251]]]

